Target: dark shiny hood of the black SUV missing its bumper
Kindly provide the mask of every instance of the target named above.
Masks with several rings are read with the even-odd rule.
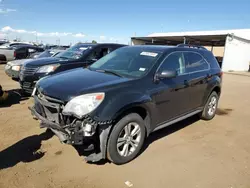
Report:
[[[122,78],[108,73],[77,68],[48,76],[37,83],[38,90],[44,95],[62,101],[88,92],[105,92],[122,87],[132,79]]]

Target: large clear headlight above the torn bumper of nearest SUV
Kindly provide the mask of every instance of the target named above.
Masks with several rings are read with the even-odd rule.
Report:
[[[74,115],[81,119],[94,111],[103,101],[105,93],[85,94],[71,99],[63,109],[64,115]]]

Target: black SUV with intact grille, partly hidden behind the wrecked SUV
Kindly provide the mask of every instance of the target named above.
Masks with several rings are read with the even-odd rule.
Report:
[[[19,74],[21,88],[26,93],[32,93],[35,83],[39,79],[69,69],[87,67],[111,51],[123,46],[125,45],[78,43],[54,57],[26,62]]]

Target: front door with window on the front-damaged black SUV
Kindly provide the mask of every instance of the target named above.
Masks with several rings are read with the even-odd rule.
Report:
[[[171,53],[160,65],[157,73],[176,71],[175,78],[163,79],[156,84],[154,95],[158,111],[158,124],[184,114],[189,109],[189,75],[186,73],[185,58],[182,52]]]

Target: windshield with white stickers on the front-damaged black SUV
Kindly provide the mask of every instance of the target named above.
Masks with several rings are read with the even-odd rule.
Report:
[[[124,77],[139,78],[145,75],[161,53],[145,48],[119,48],[90,66],[90,70],[114,72]]]

